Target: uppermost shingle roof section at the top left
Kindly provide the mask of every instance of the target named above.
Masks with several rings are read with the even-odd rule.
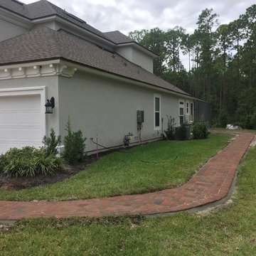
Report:
[[[73,14],[69,14],[67,11],[61,9],[58,6],[55,6],[54,4],[46,0],[36,1],[32,4],[23,4],[16,0],[0,0],[0,6],[30,20],[57,15],[61,18],[65,18],[72,23],[75,23],[75,25],[85,28],[92,33],[95,33],[97,36],[101,36],[102,38],[111,41],[110,38],[107,38],[104,33],[88,25],[85,21],[82,21],[82,19],[73,16]]]

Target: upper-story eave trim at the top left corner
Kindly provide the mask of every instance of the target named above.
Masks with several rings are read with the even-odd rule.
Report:
[[[12,11],[8,11],[0,6],[0,17],[5,21],[14,23],[15,25],[21,26],[26,29],[31,29],[33,23],[28,18],[24,18],[18,14],[15,14]]]

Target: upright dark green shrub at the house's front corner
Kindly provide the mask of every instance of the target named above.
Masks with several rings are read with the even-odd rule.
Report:
[[[86,138],[82,137],[82,132],[72,132],[70,126],[70,119],[68,118],[68,124],[66,129],[68,135],[64,137],[64,151],[63,157],[69,164],[73,164],[77,161],[82,160],[85,156],[85,140]]]

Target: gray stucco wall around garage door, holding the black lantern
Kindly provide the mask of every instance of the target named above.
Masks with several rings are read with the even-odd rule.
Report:
[[[10,88],[25,87],[46,87],[46,99],[55,97],[55,108],[53,114],[46,115],[46,133],[50,134],[50,128],[59,133],[59,107],[58,107],[58,76],[49,76],[41,78],[18,78],[10,80],[0,80],[0,90]],[[44,107],[44,106],[43,106]],[[42,138],[43,139],[43,138]]]

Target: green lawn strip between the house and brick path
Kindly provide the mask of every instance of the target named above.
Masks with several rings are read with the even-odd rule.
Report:
[[[161,141],[113,153],[85,171],[48,186],[0,191],[0,200],[71,200],[158,191],[186,183],[211,156],[228,143],[230,135],[208,139]]]

